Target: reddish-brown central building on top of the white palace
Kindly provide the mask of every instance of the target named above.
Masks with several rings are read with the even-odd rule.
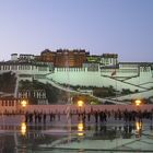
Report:
[[[69,64],[71,68],[81,68],[83,62],[86,61],[86,52],[84,49],[58,49],[57,51],[50,51],[45,49],[39,56],[39,61],[52,62],[54,67],[63,68]]]

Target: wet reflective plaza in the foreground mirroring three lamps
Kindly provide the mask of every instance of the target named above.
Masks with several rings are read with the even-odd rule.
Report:
[[[46,122],[25,122],[24,115],[0,116],[0,153],[153,152],[152,120],[110,117],[95,122],[61,115]]]

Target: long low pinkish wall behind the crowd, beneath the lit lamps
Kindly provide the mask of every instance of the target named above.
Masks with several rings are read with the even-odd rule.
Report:
[[[16,106],[0,106],[0,114],[2,113],[25,113],[25,111],[43,111],[43,113],[67,113],[69,110],[153,110],[153,105],[84,105],[79,107],[78,105],[26,105],[22,107],[21,105]]]

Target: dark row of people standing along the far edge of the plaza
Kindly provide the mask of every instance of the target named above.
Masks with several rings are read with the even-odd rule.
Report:
[[[94,122],[107,122],[109,119],[114,120],[122,120],[125,122],[128,121],[139,121],[142,122],[143,119],[152,120],[153,119],[153,109],[152,110],[69,110],[69,111],[37,111],[34,110],[33,113],[26,111],[25,113],[25,122],[47,122],[47,121],[55,121],[61,120],[61,117],[66,117],[67,119],[73,119],[74,116],[78,120],[82,120],[83,122],[90,122],[94,120]]]

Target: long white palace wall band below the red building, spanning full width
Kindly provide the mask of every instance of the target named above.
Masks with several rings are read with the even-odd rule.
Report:
[[[43,78],[45,81],[47,76],[47,79],[57,83],[74,86],[102,87],[111,85],[118,91],[122,89],[146,91],[153,87],[153,72],[151,69],[143,71],[140,68],[140,72],[137,69],[131,71],[128,69],[117,69],[117,73],[111,75],[113,70],[109,69],[87,71],[87,68],[55,68],[55,70],[50,72],[49,67],[44,66],[1,66],[0,73],[9,71],[21,74],[22,76],[20,76],[19,80],[32,80],[33,76],[36,76],[37,79]]]

